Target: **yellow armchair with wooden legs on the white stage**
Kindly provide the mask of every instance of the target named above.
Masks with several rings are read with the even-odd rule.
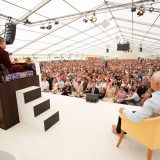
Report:
[[[126,132],[127,135],[148,148],[147,160],[152,160],[153,150],[160,148],[160,116],[146,119],[138,124],[131,122],[123,114],[120,117],[122,124],[117,147],[119,147],[124,137],[124,132]]]

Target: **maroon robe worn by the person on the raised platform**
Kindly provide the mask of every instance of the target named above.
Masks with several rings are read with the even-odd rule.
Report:
[[[8,52],[0,47],[0,64],[8,68],[9,73],[25,71],[23,65],[12,64]]]

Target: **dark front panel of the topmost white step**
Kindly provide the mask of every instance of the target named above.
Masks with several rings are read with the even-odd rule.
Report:
[[[41,89],[37,88],[24,93],[24,102],[28,103],[41,97]]]

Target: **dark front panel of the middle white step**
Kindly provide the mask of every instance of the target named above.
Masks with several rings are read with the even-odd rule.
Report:
[[[46,100],[36,106],[34,106],[34,117],[37,117],[41,113],[45,112],[46,110],[50,109],[50,100]]]

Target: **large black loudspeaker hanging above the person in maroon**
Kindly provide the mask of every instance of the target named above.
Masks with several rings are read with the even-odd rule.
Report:
[[[6,23],[5,24],[5,40],[6,44],[12,44],[16,36],[16,24]]]

